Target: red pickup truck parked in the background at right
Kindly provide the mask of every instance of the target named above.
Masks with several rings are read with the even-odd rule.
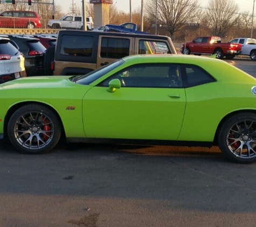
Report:
[[[181,47],[183,54],[216,54],[216,58],[233,59],[241,53],[241,45],[222,42],[217,36],[202,36],[192,42],[184,42]]]

